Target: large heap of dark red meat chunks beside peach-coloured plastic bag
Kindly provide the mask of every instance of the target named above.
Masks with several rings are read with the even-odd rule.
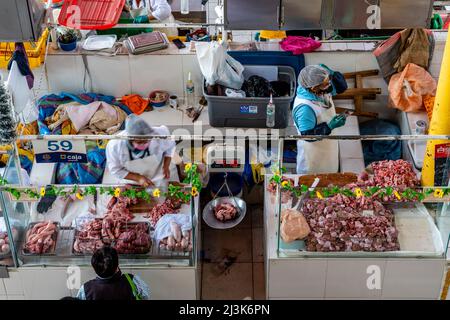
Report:
[[[399,250],[392,211],[377,200],[336,195],[306,200],[302,212],[311,228],[308,251]]]

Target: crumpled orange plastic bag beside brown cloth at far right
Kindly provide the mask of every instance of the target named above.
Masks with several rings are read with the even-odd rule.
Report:
[[[423,98],[436,95],[436,80],[422,67],[409,63],[389,81],[389,98],[394,108],[405,112],[423,109]]]

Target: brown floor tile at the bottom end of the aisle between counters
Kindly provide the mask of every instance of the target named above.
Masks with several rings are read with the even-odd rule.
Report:
[[[234,263],[224,267],[218,263],[204,263],[202,299],[242,300],[253,297],[252,264]]]

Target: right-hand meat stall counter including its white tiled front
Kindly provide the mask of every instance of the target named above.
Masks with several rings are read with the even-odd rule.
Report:
[[[445,186],[420,187],[404,160],[373,162],[359,175],[284,171],[265,176],[268,299],[440,297]]]

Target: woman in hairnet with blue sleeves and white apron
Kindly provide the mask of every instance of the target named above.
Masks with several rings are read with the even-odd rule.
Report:
[[[345,115],[336,115],[331,82],[333,71],[324,65],[302,69],[292,116],[300,135],[330,135],[345,125]],[[339,169],[336,140],[297,141],[297,173],[327,173]]]

